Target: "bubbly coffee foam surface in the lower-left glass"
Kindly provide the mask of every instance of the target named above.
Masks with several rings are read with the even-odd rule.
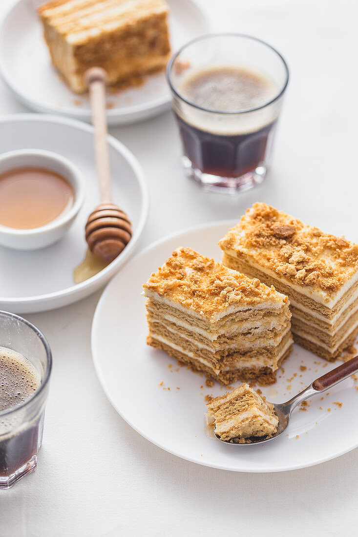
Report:
[[[0,412],[26,401],[40,383],[38,372],[27,358],[0,347]]]

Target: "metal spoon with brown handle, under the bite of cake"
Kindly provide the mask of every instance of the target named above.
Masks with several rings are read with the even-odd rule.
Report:
[[[230,446],[250,446],[252,444],[263,444],[264,442],[268,442],[269,440],[274,440],[274,438],[278,438],[279,436],[281,436],[281,434],[287,429],[288,424],[290,422],[292,410],[296,408],[299,403],[302,403],[302,401],[309,399],[310,397],[312,397],[312,395],[323,393],[328,388],[332,388],[332,386],[335,386],[335,384],[338,384],[342,380],[347,379],[348,376],[353,375],[353,373],[357,372],[358,356],[352,358],[352,360],[348,360],[347,362],[345,362],[345,364],[342,364],[339,367],[332,369],[332,371],[326,373],[325,375],[320,376],[320,378],[314,380],[308,388],[295,395],[295,397],[292,397],[292,399],[290,399],[286,403],[274,404],[276,416],[278,417],[278,425],[277,431],[270,436],[245,438],[246,442],[242,442],[241,444],[239,443],[239,440],[242,441],[243,439],[232,439],[232,441],[221,440],[221,438],[216,434],[215,429],[214,435],[218,440],[220,440],[220,442],[224,442],[224,444],[229,444]]]

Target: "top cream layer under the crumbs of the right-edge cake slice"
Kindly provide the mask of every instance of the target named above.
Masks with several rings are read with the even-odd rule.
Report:
[[[234,250],[224,250],[227,255],[233,257],[234,259],[239,259],[237,257],[237,253]],[[271,278],[274,278],[277,281],[281,281],[283,284],[291,287],[292,289],[295,289],[297,293],[303,294],[308,296],[310,299],[314,300],[315,302],[319,302],[321,304],[324,304],[327,308],[333,308],[334,305],[341,299],[341,297],[347,293],[347,291],[352,287],[352,285],[355,284],[355,282],[358,280],[358,271],[353,275],[350,280],[348,280],[340,289],[338,292],[336,292],[333,295],[330,295],[328,293],[325,293],[324,291],[316,291],[312,287],[306,287],[306,286],[300,286],[297,284],[294,284],[291,280],[285,280],[283,278],[280,278],[276,274],[276,272],[266,269],[266,267],[263,267],[262,265],[259,265],[256,263],[253,258],[249,255],[249,253],[243,249],[240,250],[240,253],[244,254],[248,258],[248,264],[253,266],[255,269],[260,270],[264,274],[270,276]],[[358,294],[356,295],[358,296]]]

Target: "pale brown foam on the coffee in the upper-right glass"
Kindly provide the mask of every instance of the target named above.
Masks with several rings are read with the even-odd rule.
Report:
[[[183,121],[224,136],[256,132],[273,123],[281,109],[281,98],[275,99],[276,83],[264,73],[240,66],[192,70],[178,84],[178,93],[188,101],[173,101]]]

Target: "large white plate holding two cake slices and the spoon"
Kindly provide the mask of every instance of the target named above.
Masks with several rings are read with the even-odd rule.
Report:
[[[178,367],[175,359],[146,345],[142,284],[178,246],[191,246],[220,260],[217,242],[234,223],[206,224],[164,238],[113,278],[98,302],[92,325],[99,381],[133,429],[183,459],[248,472],[291,470],[333,459],[358,445],[358,391],[352,379],[328,390],[322,400],[313,397],[306,411],[296,409],[283,438],[266,445],[226,446],[204,431],[205,395],[223,395],[226,388],[218,383],[207,388],[204,375]],[[284,372],[278,372],[277,383],[262,391],[269,401],[287,401],[336,365],[295,345]]]

